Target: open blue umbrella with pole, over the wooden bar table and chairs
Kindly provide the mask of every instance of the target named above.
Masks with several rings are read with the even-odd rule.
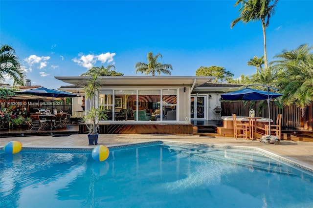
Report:
[[[249,86],[262,86],[266,87],[267,91],[251,89]],[[270,90],[274,90],[274,92],[270,92]],[[222,100],[227,101],[259,101],[259,100],[268,100],[268,125],[269,125],[269,135],[270,135],[270,99],[277,98],[282,96],[283,94],[276,93],[278,89],[264,85],[264,84],[250,84],[247,85],[245,89],[228,92],[221,95]]]

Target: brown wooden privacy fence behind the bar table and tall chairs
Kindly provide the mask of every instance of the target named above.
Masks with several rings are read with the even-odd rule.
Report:
[[[244,102],[222,102],[222,116],[231,116],[235,113],[237,116],[248,116],[249,110],[255,110],[255,116],[268,118],[267,101],[256,101],[254,105],[244,106]],[[263,104],[262,104],[263,103]],[[301,117],[301,109],[295,105],[278,108],[273,102],[270,103],[270,118],[276,122],[278,114],[282,114],[282,127],[295,129],[313,130],[313,104],[305,109],[305,115]]]

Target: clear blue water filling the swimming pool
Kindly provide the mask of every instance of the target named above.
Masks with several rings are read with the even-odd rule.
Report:
[[[313,174],[263,153],[154,144],[0,153],[1,208],[307,208]]]

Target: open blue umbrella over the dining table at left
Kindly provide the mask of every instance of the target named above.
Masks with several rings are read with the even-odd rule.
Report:
[[[16,91],[16,94],[24,94],[24,95],[37,95],[37,96],[43,96],[43,97],[52,97],[52,112],[53,112],[53,102],[54,98],[72,98],[76,97],[76,94],[56,90],[56,89],[48,89],[45,87],[40,87],[36,89],[28,89],[28,90],[22,90],[22,91]]]

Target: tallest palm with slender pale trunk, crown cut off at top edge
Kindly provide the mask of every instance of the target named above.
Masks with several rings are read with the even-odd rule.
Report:
[[[243,21],[245,23],[249,21],[259,21],[262,22],[263,29],[263,41],[264,41],[264,67],[268,68],[268,56],[266,52],[266,28],[269,24],[270,17],[275,12],[275,6],[278,0],[274,0],[274,3],[270,5],[273,0],[237,0],[234,6],[241,3],[240,17],[231,22],[230,28],[239,22]]]

